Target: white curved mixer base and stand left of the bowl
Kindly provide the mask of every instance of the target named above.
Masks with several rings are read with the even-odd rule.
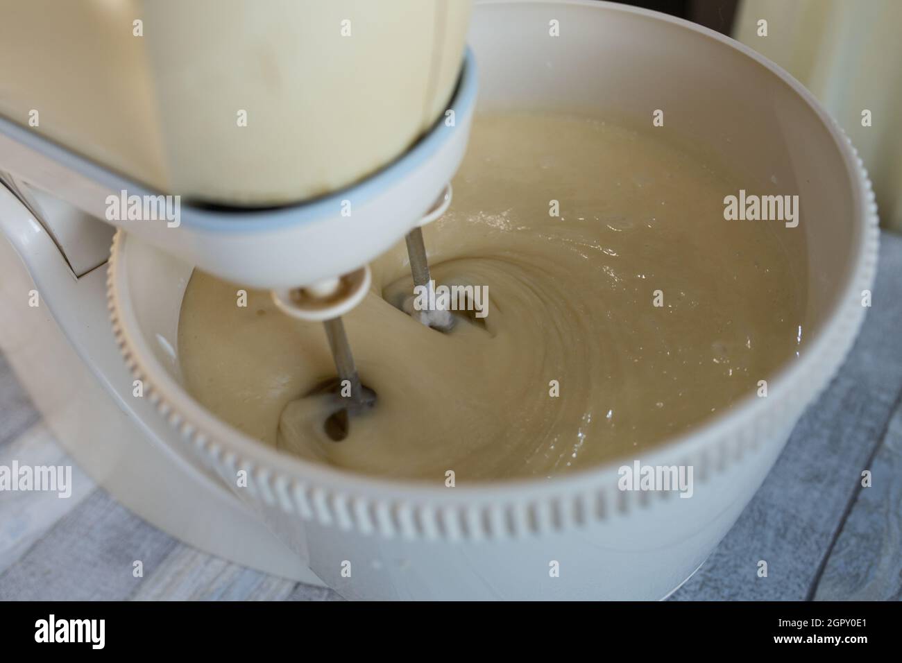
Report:
[[[0,198],[0,235],[21,239],[23,208],[12,208],[2,186]],[[180,456],[178,440],[163,442],[173,437],[169,426],[151,403],[124,389],[132,379],[109,325],[106,264],[76,280],[40,226],[25,233],[29,242],[47,243],[47,264],[35,285],[6,236],[0,239],[0,307],[8,314],[0,349],[60,444],[118,502],[171,536],[324,586],[219,479]],[[28,306],[31,290],[40,295],[36,308]]]

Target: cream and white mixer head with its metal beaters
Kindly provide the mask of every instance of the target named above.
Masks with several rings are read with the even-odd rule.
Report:
[[[48,216],[105,219],[322,321],[346,403],[327,430],[341,439],[375,401],[341,321],[369,290],[366,263],[406,235],[415,283],[429,282],[419,224],[450,202],[474,108],[469,14],[449,0],[10,7],[6,55],[38,69],[0,90],[0,177],[49,230],[66,222]],[[81,56],[69,72],[46,52],[73,25],[88,33],[69,41]],[[69,97],[72,73],[118,77],[156,112],[107,117],[97,141],[105,102]],[[164,198],[166,218],[153,208]]]

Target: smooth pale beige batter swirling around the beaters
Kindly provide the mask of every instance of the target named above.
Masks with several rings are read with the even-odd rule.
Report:
[[[335,376],[321,325],[264,291],[240,308],[235,285],[197,271],[179,321],[189,391],[290,453],[433,482],[454,470],[457,485],[636,457],[753,397],[798,349],[792,231],[724,220],[749,182],[663,135],[477,117],[452,206],[424,233],[433,278],[487,285],[489,314],[424,327],[392,306],[412,289],[404,243],[373,262],[345,327],[378,404],[344,441],[323,433],[324,401],[302,398]]]

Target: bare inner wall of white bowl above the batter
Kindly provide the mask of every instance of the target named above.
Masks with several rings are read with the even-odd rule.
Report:
[[[863,235],[860,189],[805,97],[744,47],[676,20],[598,11],[593,2],[520,5],[511,21],[505,5],[477,5],[474,14],[479,108],[588,112],[649,126],[662,109],[668,132],[740,164],[750,181],[769,186],[759,193],[798,194],[801,223],[781,235],[807,290],[806,336],[816,336],[850,287]],[[552,20],[559,37],[548,34]],[[133,332],[180,383],[179,308],[192,266],[143,242],[127,246]]]

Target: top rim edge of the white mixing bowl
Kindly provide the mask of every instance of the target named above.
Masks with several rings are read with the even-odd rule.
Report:
[[[811,342],[803,347],[795,361],[787,361],[771,376],[767,399],[743,398],[741,401],[737,401],[731,410],[704,419],[689,431],[667,438],[666,441],[637,456],[642,457],[643,463],[673,465],[675,458],[693,457],[706,449],[723,446],[725,439],[736,437],[742,431],[748,431],[753,421],[773,409],[769,403],[775,401],[779,405],[797,406],[800,413],[805,405],[823,390],[826,382],[839,368],[851,348],[851,343],[857,336],[865,314],[865,310],[859,302],[860,292],[862,289],[870,288],[876,271],[879,242],[877,208],[870,189],[867,171],[864,170],[861,159],[851,142],[815,97],[784,69],[779,68],[778,65],[744,44],[701,25],[639,7],[597,2],[597,0],[561,0],[559,2],[483,0],[477,3],[477,5],[543,4],[576,5],[594,10],[637,14],[649,20],[670,23],[678,29],[695,32],[706,39],[719,41],[724,47],[739,51],[751,60],[755,60],[760,66],[768,69],[773,76],[786,83],[811,108],[815,118],[824,125],[827,133],[833,139],[834,147],[845,165],[851,187],[853,208],[851,223],[854,225],[854,234],[850,265],[844,275],[842,289],[825,315],[824,325],[817,331]],[[531,502],[538,502],[549,496],[575,495],[586,490],[598,489],[601,485],[612,485],[616,483],[617,468],[629,458],[629,456],[618,457],[601,465],[582,468],[552,478],[528,477],[460,484],[456,485],[454,490],[449,491],[439,477],[434,483],[425,483],[422,480],[373,477],[305,461],[263,445],[217,419],[197,401],[194,401],[188,391],[173,380],[157,362],[150,347],[137,332],[140,327],[137,325],[137,319],[126,292],[126,275],[128,273],[126,247],[130,240],[132,240],[132,235],[125,234],[121,229],[116,232],[111,247],[107,278],[107,298],[111,321],[117,344],[120,346],[126,364],[132,369],[136,379],[143,380],[145,391],[149,391],[161,415],[179,429],[182,437],[196,447],[204,448],[207,455],[212,453],[225,457],[226,465],[252,470],[258,479],[262,479],[263,483],[272,485],[279,482],[299,482],[306,486],[305,490],[312,489],[315,493],[318,490],[325,491],[330,495],[338,494],[345,500],[351,501],[377,499],[412,502],[430,508],[474,505],[482,508],[495,506],[503,501],[519,502],[524,494],[529,495]],[[814,381],[807,381],[805,398],[800,400],[794,393],[794,387],[800,382],[800,378],[806,376],[810,378],[812,375],[817,378]],[[632,458],[629,459],[632,460]],[[326,495],[326,493],[322,494]]]

